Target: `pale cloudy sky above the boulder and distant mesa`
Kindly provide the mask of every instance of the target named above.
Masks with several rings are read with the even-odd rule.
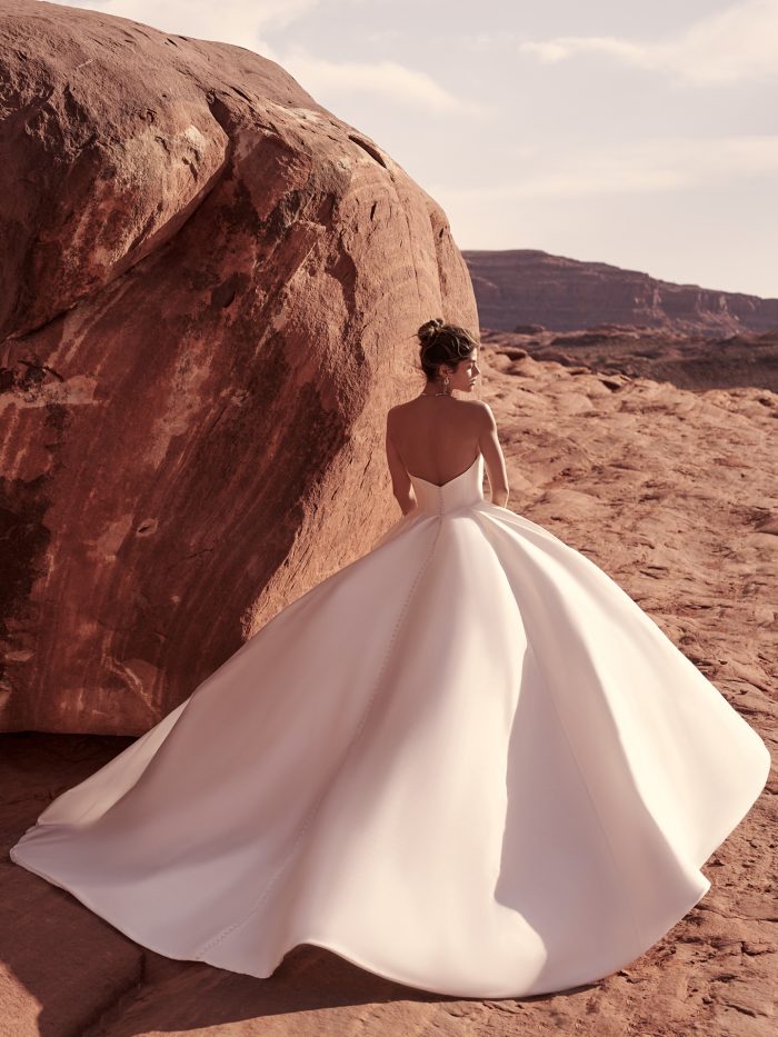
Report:
[[[277,61],[436,201],[542,249],[778,297],[778,0],[81,0]]]

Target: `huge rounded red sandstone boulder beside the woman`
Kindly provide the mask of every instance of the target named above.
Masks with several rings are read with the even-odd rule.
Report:
[[[0,0],[0,729],[140,734],[396,509],[445,213],[249,50]]]

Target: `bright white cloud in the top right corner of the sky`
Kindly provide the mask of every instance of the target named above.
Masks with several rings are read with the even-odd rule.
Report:
[[[551,64],[581,53],[605,54],[697,86],[771,79],[778,76],[778,0],[744,0],[660,42],[560,36],[525,40],[518,49]]]

